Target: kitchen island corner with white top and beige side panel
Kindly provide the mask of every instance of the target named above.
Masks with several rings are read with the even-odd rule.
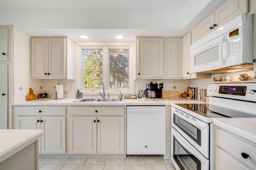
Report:
[[[42,130],[1,129],[0,170],[38,169],[38,139]]]

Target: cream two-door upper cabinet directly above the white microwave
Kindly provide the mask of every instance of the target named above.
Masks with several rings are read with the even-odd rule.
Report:
[[[210,14],[210,16],[196,26],[192,31],[194,33],[192,37],[195,37],[195,41],[198,41],[228,21],[248,13],[248,4],[248,0],[227,0],[217,10]],[[193,40],[192,42],[194,43],[195,41]]]

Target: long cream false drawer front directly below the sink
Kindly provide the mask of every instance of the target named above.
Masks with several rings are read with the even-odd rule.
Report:
[[[116,107],[90,107],[71,106],[70,115],[124,115],[124,106]]]

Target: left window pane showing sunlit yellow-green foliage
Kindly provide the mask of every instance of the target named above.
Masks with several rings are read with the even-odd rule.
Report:
[[[83,59],[83,88],[102,88],[98,81],[102,79],[102,49],[82,49]]]

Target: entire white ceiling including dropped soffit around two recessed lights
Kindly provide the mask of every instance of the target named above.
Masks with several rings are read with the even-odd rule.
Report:
[[[0,0],[0,25],[75,42],[182,37],[225,0]],[[89,39],[81,39],[86,34]],[[124,35],[124,39],[115,39]]]

